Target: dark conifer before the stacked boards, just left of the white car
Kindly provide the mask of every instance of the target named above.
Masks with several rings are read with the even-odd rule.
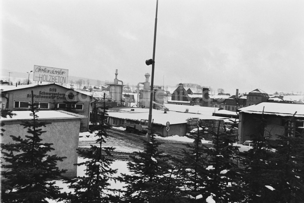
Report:
[[[240,174],[237,164],[233,161],[235,151],[232,145],[236,138],[226,132],[220,133],[219,127],[217,132],[209,132],[213,134],[213,147],[206,151],[208,159],[204,171],[207,178],[199,192],[203,199],[212,195],[218,203],[239,201]]]

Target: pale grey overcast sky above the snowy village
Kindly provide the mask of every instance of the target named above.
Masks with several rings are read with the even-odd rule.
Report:
[[[156,0],[2,0],[2,68],[34,65],[136,85]],[[159,0],[155,85],[304,92],[304,1]],[[5,73],[2,73],[5,75]]]

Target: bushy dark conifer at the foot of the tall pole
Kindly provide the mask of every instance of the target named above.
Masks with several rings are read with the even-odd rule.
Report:
[[[132,174],[122,174],[127,184],[125,202],[178,202],[179,188],[174,181],[178,168],[168,163],[168,155],[158,150],[160,144],[152,127],[150,142],[144,141],[144,150],[130,155],[128,169]]]

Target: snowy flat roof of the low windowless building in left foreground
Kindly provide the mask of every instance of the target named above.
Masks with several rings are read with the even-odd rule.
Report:
[[[12,118],[1,118],[1,121],[13,121],[13,120],[31,120],[33,116],[29,114],[32,113],[31,111],[12,111],[12,113],[16,113],[16,116]],[[50,110],[50,111],[38,111],[37,113],[38,120],[50,120],[50,119],[71,119],[71,118],[87,118],[87,116],[83,116],[76,113],[70,113],[67,111],[61,110]]]

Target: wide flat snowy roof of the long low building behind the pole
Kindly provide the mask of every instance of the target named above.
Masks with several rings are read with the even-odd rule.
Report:
[[[142,108],[134,108],[134,111],[126,110],[126,108],[119,111],[109,111],[108,114],[110,117],[122,118],[122,119],[147,119],[149,118],[149,112],[142,112]],[[147,109],[149,111],[149,109]],[[227,117],[217,117],[217,116],[209,116],[202,114],[194,114],[194,113],[180,113],[175,111],[167,111],[164,113],[163,110],[152,110],[152,119],[154,119],[154,123],[159,123],[162,125],[166,125],[167,121],[170,124],[179,124],[186,123],[186,119],[188,118],[200,118],[200,119],[215,119],[221,120],[226,119]]]

